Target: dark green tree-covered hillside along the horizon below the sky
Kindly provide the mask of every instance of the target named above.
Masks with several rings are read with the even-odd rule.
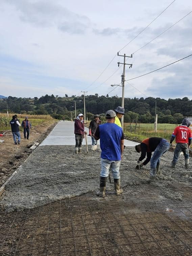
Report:
[[[0,112],[5,113],[7,110],[11,113],[51,115],[56,119],[70,120],[76,114],[84,113],[84,96],[76,97],[58,97],[58,95],[45,95],[31,98],[17,98],[9,96],[0,99]],[[85,96],[86,116],[92,119],[94,114],[104,115],[106,110],[116,109],[121,106],[121,98],[117,96],[109,97],[95,95]],[[74,102],[75,101],[75,102]],[[181,123],[184,116],[192,115],[192,100],[188,97],[183,99],[161,99],[161,98],[125,98],[124,99],[125,115],[124,122],[133,120],[141,123],[154,122],[155,113],[158,114],[159,123]]]

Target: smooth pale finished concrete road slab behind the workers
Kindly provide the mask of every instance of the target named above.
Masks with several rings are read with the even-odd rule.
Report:
[[[89,129],[85,127],[85,131],[89,134]],[[88,145],[92,144],[91,137],[87,135]],[[98,140],[98,145],[99,145]],[[124,145],[133,147],[139,143],[124,140]],[[72,121],[60,121],[58,122],[54,129],[50,132],[47,138],[40,144],[40,146],[46,145],[75,145],[75,134],[74,134],[74,122]],[[82,145],[86,145],[86,139],[83,139]]]

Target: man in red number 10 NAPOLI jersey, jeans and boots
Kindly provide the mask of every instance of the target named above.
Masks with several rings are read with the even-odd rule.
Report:
[[[181,152],[183,152],[185,157],[185,168],[189,169],[189,146],[191,145],[192,134],[189,128],[190,122],[187,118],[184,118],[182,124],[177,126],[173,131],[170,139],[170,145],[176,137],[176,147],[174,150],[173,160],[171,162],[171,167],[175,168],[177,160]]]

